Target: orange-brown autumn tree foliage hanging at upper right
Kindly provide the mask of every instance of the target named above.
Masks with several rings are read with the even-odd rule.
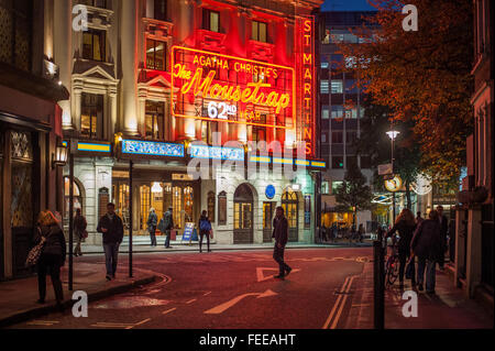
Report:
[[[459,176],[472,133],[472,1],[408,0],[418,31],[406,32],[406,4],[369,0],[377,14],[353,33],[363,44],[341,44],[346,70],[358,72],[364,92],[387,107],[389,119],[411,123],[420,168],[435,180]]]

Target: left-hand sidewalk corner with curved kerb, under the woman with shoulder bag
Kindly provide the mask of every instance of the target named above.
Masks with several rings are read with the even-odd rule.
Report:
[[[133,287],[150,284],[156,279],[152,273],[134,268],[133,277],[129,277],[128,267],[119,265],[117,278],[107,282],[105,278],[105,264],[78,263],[73,281],[73,292],[68,290],[67,264],[62,270],[62,284],[64,287],[64,307],[72,308],[73,293],[84,290],[89,301],[105,298],[110,295],[127,292]],[[55,295],[52,279],[46,278],[46,304],[38,305],[37,277],[30,276],[0,283],[0,328],[37,318],[56,311]]]

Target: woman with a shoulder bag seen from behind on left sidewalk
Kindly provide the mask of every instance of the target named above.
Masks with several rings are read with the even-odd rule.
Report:
[[[66,243],[57,219],[50,210],[42,211],[38,217],[38,227],[34,238],[37,244],[44,241],[43,251],[37,262],[37,289],[40,293],[38,304],[45,303],[46,274],[52,278],[55,299],[58,310],[63,310],[64,290],[61,281],[61,267],[65,264]]]

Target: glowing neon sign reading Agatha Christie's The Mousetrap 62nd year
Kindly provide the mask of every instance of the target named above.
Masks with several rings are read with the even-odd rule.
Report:
[[[295,70],[195,48],[172,48],[175,117],[295,127]]]

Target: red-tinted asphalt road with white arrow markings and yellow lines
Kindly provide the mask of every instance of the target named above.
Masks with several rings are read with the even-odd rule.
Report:
[[[67,310],[11,328],[344,328],[353,277],[371,256],[372,249],[359,248],[287,250],[294,271],[279,281],[267,250],[139,254],[135,270],[156,273],[158,283],[90,303],[87,318]],[[103,264],[102,255],[78,260]]]

